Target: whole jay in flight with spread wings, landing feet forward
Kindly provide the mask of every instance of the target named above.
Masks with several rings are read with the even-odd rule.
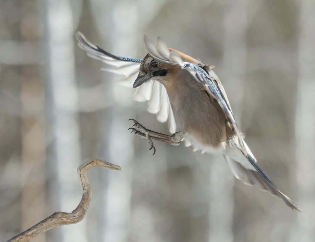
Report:
[[[89,57],[116,67],[104,70],[125,76],[121,84],[137,89],[134,100],[148,101],[148,111],[156,113],[158,121],[168,121],[173,135],[146,129],[131,119],[134,125],[130,129],[147,140],[153,154],[152,140],[171,145],[184,141],[194,151],[223,154],[237,179],[278,196],[290,208],[301,212],[297,203],[278,190],[258,166],[235,122],[213,65],[168,48],[159,37],[154,44],[144,36],[148,54],[143,59],[112,55],[89,42],[80,32],[76,38]]]

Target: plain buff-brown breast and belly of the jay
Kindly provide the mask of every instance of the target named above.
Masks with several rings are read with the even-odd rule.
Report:
[[[178,126],[176,131],[188,133],[202,145],[214,148],[228,140],[233,130],[218,102],[188,71],[177,66],[172,66],[169,71],[172,75],[165,78],[163,85]]]

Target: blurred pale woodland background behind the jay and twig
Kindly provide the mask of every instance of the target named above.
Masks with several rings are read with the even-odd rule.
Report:
[[[84,220],[34,241],[314,241],[315,1],[2,0],[0,239],[81,199]],[[221,156],[130,134],[129,118],[168,133],[132,101],[122,77],[77,47],[74,33],[143,58],[143,34],[214,64],[259,165],[303,210],[234,179]]]

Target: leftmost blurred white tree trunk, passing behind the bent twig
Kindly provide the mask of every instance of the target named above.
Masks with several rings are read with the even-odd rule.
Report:
[[[55,210],[72,211],[80,201],[76,170],[82,162],[78,122],[77,83],[74,62],[74,31],[80,16],[81,1],[46,1],[47,104],[49,149],[48,176],[53,179],[49,201]],[[52,240],[87,241],[86,220],[73,227],[48,233]],[[71,229],[72,228],[72,229]]]

